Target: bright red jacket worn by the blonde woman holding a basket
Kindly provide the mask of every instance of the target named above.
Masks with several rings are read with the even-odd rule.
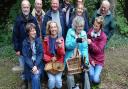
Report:
[[[64,47],[64,39],[61,37],[62,41],[62,47],[59,48],[57,43],[55,44],[56,49],[56,58],[58,62],[63,63],[64,62],[64,55],[65,55],[65,47]],[[46,63],[51,61],[51,58],[54,57],[53,54],[50,53],[49,48],[49,36],[46,36],[43,41],[43,47],[44,47],[44,61]]]

